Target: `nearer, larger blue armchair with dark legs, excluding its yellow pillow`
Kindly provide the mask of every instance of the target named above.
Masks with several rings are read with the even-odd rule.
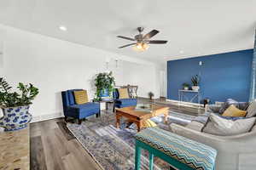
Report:
[[[81,124],[82,119],[87,116],[95,115],[96,117],[101,116],[100,104],[96,102],[88,102],[83,105],[77,105],[75,103],[73,91],[79,91],[82,89],[71,89],[61,92],[63,112],[65,116],[65,121],[67,117],[73,117],[79,119],[79,124]]]

